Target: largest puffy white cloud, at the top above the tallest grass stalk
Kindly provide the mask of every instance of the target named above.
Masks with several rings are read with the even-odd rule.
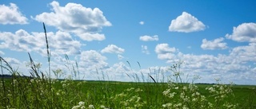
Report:
[[[103,12],[98,8],[86,8],[81,4],[68,3],[59,6],[58,2],[51,2],[53,12],[42,13],[35,16],[36,21],[43,21],[62,31],[75,33],[85,41],[105,39],[104,34],[99,34],[103,26],[110,26]]]

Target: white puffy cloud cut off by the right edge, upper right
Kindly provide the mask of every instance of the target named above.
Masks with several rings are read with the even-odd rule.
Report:
[[[256,42],[256,23],[242,23],[233,28],[232,34],[226,34],[226,38],[238,42]]]

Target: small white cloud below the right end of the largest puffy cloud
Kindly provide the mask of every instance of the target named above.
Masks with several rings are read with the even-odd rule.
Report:
[[[106,48],[102,49],[101,53],[124,53],[125,49],[119,48],[116,45],[107,45]]]

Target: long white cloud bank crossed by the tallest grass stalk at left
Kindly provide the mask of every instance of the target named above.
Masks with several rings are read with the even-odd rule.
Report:
[[[46,56],[46,41],[44,33],[28,33],[19,29],[15,33],[0,33],[0,49],[11,49],[14,51],[36,52]],[[79,54],[82,44],[74,41],[70,33],[58,31],[47,33],[50,50],[52,54]]]

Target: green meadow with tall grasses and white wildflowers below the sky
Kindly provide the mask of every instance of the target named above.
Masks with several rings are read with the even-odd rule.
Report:
[[[46,33],[45,26],[44,30]],[[46,35],[46,34],[45,34]],[[50,78],[59,76],[60,71],[51,71],[50,53],[46,36],[49,71],[39,70],[30,53],[30,76],[22,76],[11,67],[2,56],[0,82],[0,108],[6,109],[253,109],[256,108],[256,86],[222,84],[195,84],[183,82],[179,72],[180,65],[170,66],[168,81],[139,82],[138,75],[134,82],[109,80],[74,80],[71,76],[63,80]],[[66,56],[68,57],[68,56]],[[72,73],[78,71],[73,66]],[[10,77],[6,78],[6,72]],[[128,75],[129,76],[129,75]]]

